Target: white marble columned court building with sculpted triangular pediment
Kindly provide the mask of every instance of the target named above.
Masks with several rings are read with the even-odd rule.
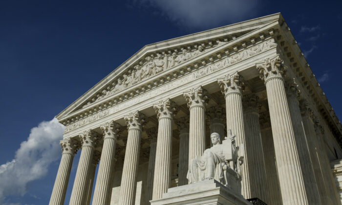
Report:
[[[341,204],[342,125],[280,13],[146,45],[57,119],[66,129],[50,205],[67,186],[70,205],[158,201],[188,184],[214,132],[244,144],[245,199]]]

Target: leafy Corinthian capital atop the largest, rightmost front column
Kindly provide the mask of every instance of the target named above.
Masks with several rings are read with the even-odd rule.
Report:
[[[256,63],[256,68],[259,71],[259,77],[265,82],[265,84],[271,79],[284,80],[287,67],[284,65],[284,61],[280,59],[279,54],[267,58],[263,62]]]

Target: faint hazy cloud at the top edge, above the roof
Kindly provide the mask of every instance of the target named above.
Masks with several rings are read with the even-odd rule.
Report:
[[[152,6],[159,15],[185,27],[209,28],[252,17],[259,0],[132,0],[139,7]]]

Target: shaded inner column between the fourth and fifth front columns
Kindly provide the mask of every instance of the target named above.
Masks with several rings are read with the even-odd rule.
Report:
[[[145,200],[142,203],[142,205],[150,205],[150,200],[152,200],[158,129],[156,129],[155,127],[152,127],[149,130],[147,130],[147,134],[150,138],[150,157],[149,157],[149,167],[148,167],[147,181],[146,181],[147,183],[146,190],[144,192]]]

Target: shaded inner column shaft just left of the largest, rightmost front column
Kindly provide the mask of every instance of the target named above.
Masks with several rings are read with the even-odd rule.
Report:
[[[281,205],[282,199],[271,127],[261,130],[261,141],[269,193],[268,202],[270,205]]]

